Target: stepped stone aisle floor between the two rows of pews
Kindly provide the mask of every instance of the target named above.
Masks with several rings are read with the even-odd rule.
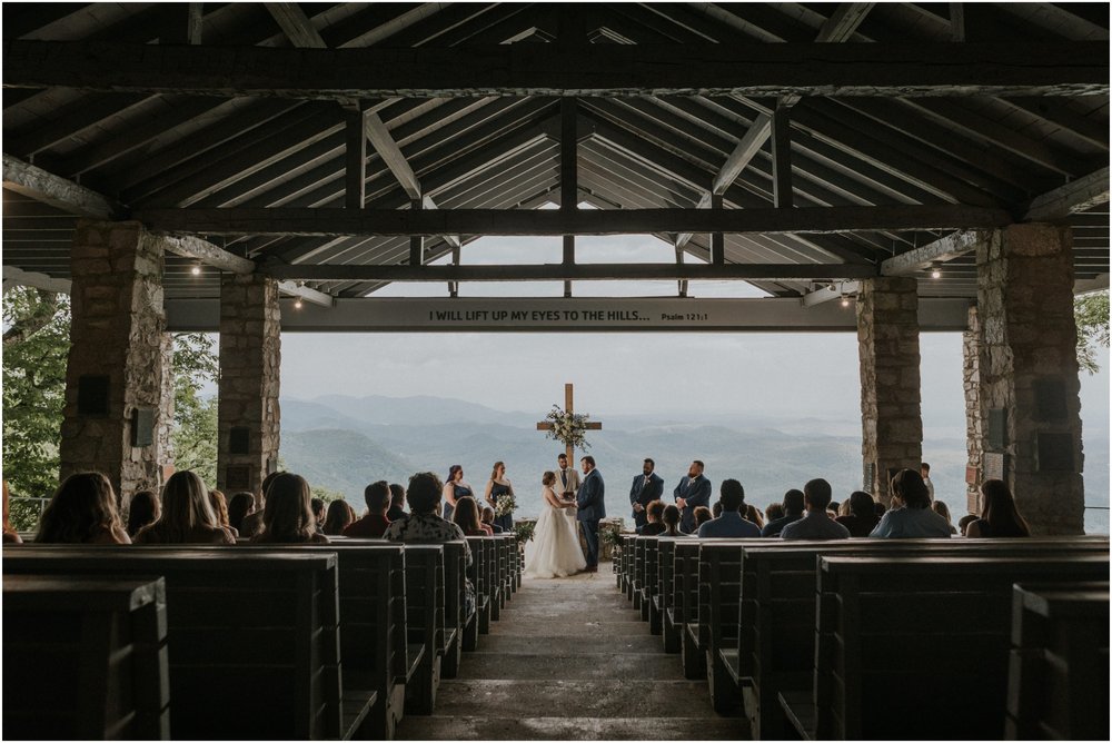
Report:
[[[711,709],[615,586],[609,564],[526,579],[502,620],[440,682],[436,714],[407,716],[399,740],[742,740],[743,717]]]

